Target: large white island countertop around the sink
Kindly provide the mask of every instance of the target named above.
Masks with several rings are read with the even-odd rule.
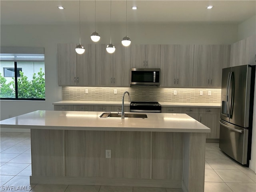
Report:
[[[145,113],[148,118],[144,119],[100,118],[101,114],[102,112],[38,110],[2,120],[0,126],[52,130],[210,132],[210,128],[186,114]]]

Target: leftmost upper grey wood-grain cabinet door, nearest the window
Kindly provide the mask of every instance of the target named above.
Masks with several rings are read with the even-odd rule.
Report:
[[[76,44],[58,44],[58,85],[76,85]]]

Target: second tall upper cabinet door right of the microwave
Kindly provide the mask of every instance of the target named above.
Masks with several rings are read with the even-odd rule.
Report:
[[[176,85],[193,85],[194,45],[178,45]]]

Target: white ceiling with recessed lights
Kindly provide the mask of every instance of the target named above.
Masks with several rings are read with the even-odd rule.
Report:
[[[81,0],[81,22],[94,22],[94,0]],[[239,24],[256,14],[256,0],[128,0],[128,22],[207,22]],[[211,10],[207,5],[213,5]],[[59,10],[57,6],[64,6]],[[138,6],[138,10],[132,10]],[[112,0],[112,22],[125,22],[126,0]],[[110,1],[96,0],[96,22],[110,21]],[[1,0],[0,24],[79,22],[78,0]]]

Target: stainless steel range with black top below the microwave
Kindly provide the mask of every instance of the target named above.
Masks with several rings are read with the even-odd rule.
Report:
[[[160,113],[161,105],[158,102],[135,102],[130,103],[130,112]]]

